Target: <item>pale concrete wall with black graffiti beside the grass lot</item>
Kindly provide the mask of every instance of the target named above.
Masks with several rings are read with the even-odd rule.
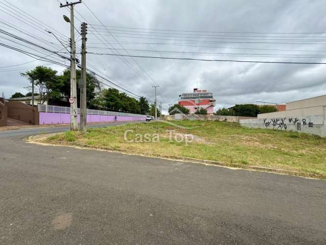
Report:
[[[322,108],[321,114],[300,116],[287,116],[284,114],[282,117],[240,119],[239,122],[241,126],[249,128],[292,130],[326,137],[326,107]]]

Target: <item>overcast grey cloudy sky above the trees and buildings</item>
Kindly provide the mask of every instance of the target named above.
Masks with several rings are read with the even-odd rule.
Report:
[[[69,12],[59,8],[59,2],[1,0],[0,29],[49,50],[65,52],[57,39],[44,31],[51,30],[67,42],[69,24],[62,15]],[[207,62],[91,54],[326,62],[324,1],[83,2],[86,5],[75,5],[75,27],[79,29],[80,21],[88,23],[88,67],[149,100],[154,98],[152,85],[158,85],[158,102],[164,111],[178,101],[179,94],[195,87],[213,92],[215,110],[257,100],[284,103],[326,94],[325,64]],[[76,40],[79,39],[76,34]],[[4,33],[0,33],[0,43],[68,64],[57,55],[48,56],[51,53]],[[6,97],[16,91],[28,92],[24,88],[28,81],[20,72],[36,65],[51,66],[59,74],[64,69],[3,46],[0,54],[0,93],[4,92]]]

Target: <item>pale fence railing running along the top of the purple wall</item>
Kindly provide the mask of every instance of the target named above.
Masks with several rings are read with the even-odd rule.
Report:
[[[52,112],[52,113],[70,113],[70,107],[64,106],[49,106],[38,104],[39,112]],[[80,113],[80,109],[78,108],[78,114]],[[138,117],[146,117],[146,115],[141,114],[133,114],[133,113],[125,113],[125,112],[116,112],[116,111],[102,111],[102,110],[92,110],[87,109],[87,114],[90,115],[108,115],[108,116],[138,116]]]

